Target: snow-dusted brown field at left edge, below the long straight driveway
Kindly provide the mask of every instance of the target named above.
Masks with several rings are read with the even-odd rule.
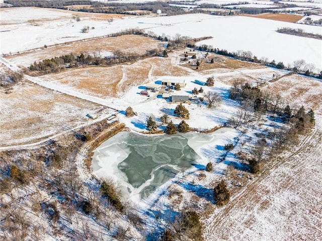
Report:
[[[54,92],[30,82],[13,86],[11,94],[0,92],[0,147],[32,143],[91,121],[110,109]]]

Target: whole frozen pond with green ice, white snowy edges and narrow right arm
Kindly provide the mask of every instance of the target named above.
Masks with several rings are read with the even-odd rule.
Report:
[[[235,135],[230,128],[209,134],[121,132],[95,150],[93,172],[101,179],[111,178],[118,183],[124,197],[146,198],[177,174],[197,164],[205,165],[208,160],[203,160],[204,152]]]

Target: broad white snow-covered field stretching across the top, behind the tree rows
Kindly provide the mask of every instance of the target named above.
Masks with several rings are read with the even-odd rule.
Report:
[[[1,10],[2,12],[4,10]],[[10,11],[10,10],[6,10]],[[15,10],[16,11],[16,10]],[[23,11],[23,8],[20,10]],[[38,11],[38,10],[37,10]],[[49,10],[48,10],[49,11]],[[54,10],[53,16],[57,17]],[[32,11],[26,15],[26,20],[31,20]],[[59,16],[61,12],[59,11]],[[304,59],[322,69],[321,40],[285,35],[277,33],[278,28],[301,28],[305,32],[320,34],[322,27],[299,25],[280,21],[256,19],[248,17],[218,17],[204,14],[180,15],[162,17],[159,20],[152,17],[126,17],[116,19],[113,23],[96,21],[85,18],[76,22],[71,14],[65,11],[65,16],[70,19],[62,21],[41,22],[39,26],[23,23],[19,25],[1,25],[2,52],[17,52],[46,45],[64,43],[66,41],[103,36],[119,32],[128,28],[144,28],[156,34],[166,34],[175,37],[181,36],[202,37],[212,36],[198,44],[212,45],[219,49],[237,51],[239,49],[251,51],[259,58],[264,56],[269,60],[275,59],[284,64],[292,64],[294,60]],[[23,15],[23,12],[21,12]],[[10,15],[9,15],[10,16]],[[50,15],[48,15],[50,16]],[[88,33],[81,33],[84,26],[94,27]],[[208,28],[212,26],[212,28]],[[28,34],[28,39],[24,38]],[[240,37],[243,36],[243,37]],[[26,39],[23,44],[21,39]],[[238,39],[238,41],[236,41]],[[300,47],[299,47],[300,46]]]

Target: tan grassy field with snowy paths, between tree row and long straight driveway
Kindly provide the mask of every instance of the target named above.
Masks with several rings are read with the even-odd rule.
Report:
[[[185,76],[189,72],[184,68],[173,66],[171,58],[152,57],[115,66],[83,66],[68,69],[60,73],[40,76],[44,81],[66,85],[94,96],[120,97],[129,88],[149,82],[149,76]]]

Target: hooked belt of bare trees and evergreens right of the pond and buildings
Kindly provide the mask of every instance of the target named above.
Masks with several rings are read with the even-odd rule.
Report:
[[[269,131],[261,136],[249,150],[245,159],[249,162],[252,173],[260,171],[261,163],[265,158],[281,152],[287,145],[296,141],[299,134],[309,131],[315,124],[312,109],[307,111],[304,106],[291,109],[290,103],[283,100],[280,95],[264,93],[258,87],[248,83],[241,84],[235,81],[229,91],[229,97],[242,105],[241,110],[228,120],[229,126],[249,125],[263,114],[269,114],[276,121],[286,124],[283,128]]]

